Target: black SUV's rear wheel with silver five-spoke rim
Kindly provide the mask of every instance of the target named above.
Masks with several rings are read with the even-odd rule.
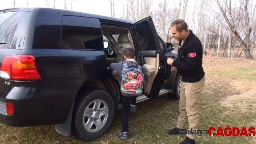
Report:
[[[89,89],[78,94],[72,119],[72,134],[82,141],[103,136],[114,117],[114,102],[109,93]]]

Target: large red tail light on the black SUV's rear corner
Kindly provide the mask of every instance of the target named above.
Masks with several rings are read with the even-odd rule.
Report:
[[[6,56],[2,61],[0,77],[11,80],[41,80],[35,58],[30,55]]]

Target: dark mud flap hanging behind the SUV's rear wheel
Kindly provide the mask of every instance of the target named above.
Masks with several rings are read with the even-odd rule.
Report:
[[[69,136],[71,134],[73,107],[74,107],[74,102],[72,104],[72,107],[70,109],[70,112],[68,114],[66,121],[64,123],[55,125],[55,131],[61,135]]]

